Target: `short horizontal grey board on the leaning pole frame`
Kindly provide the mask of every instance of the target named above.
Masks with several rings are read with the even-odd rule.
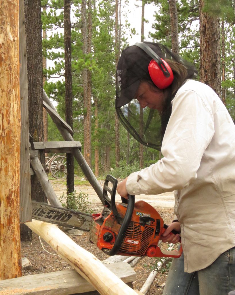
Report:
[[[80,141],[39,141],[34,142],[36,150],[44,150],[45,153],[72,153],[71,148],[81,148]]]

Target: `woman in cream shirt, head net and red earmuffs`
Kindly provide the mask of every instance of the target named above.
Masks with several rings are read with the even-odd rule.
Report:
[[[171,265],[164,295],[227,295],[235,289],[235,125],[197,72],[156,43],[123,50],[116,110],[125,128],[163,158],[130,174],[120,196],[175,191],[175,217],[162,236],[183,253]],[[143,114],[140,108],[143,108]]]

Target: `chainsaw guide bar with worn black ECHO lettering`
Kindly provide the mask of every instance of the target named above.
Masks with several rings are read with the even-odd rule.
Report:
[[[90,230],[92,215],[32,201],[32,217],[79,230]]]

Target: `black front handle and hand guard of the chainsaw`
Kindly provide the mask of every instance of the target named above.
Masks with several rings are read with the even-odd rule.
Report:
[[[109,181],[113,184],[112,189],[108,187]],[[121,224],[121,227],[117,234],[117,238],[115,239],[114,245],[112,249],[109,252],[107,252],[107,254],[110,256],[116,255],[117,252],[119,251],[121,244],[123,242],[123,238],[127,231],[127,228],[130,224],[134,206],[135,206],[135,196],[128,195],[127,209],[126,209],[125,216],[122,219],[119,213],[117,212],[117,208],[115,204],[116,188],[117,188],[117,179],[111,175],[107,175],[105,179],[105,183],[104,183],[104,190],[103,190],[104,201],[106,205],[110,206],[110,209],[112,210],[113,215],[115,216],[117,221]],[[110,193],[111,199],[109,199],[107,192]],[[122,198],[122,200],[123,199],[124,198]]]

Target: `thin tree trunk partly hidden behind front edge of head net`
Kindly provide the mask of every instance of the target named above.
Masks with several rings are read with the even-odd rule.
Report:
[[[115,65],[117,68],[117,63],[119,60],[120,53],[120,40],[119,40],[119,24],[118,24],[118,5],[119,0],[116,0],[115,4]],[[117,113],[115,113],[115,163],[116,166],[119,166],[120,161],[120,139],[119,139],[119,120],[117,117]]]

